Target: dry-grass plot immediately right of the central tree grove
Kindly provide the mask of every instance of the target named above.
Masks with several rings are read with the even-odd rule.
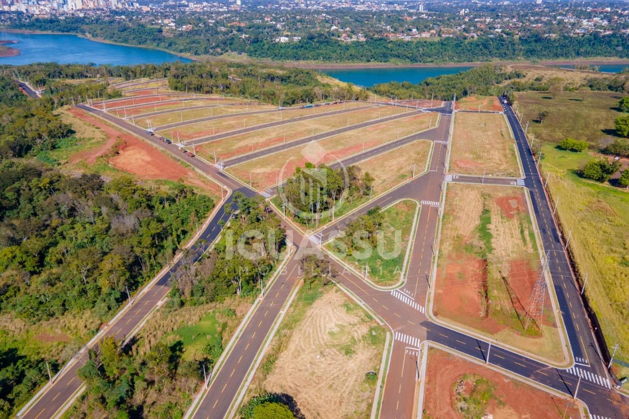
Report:
[[[428,166],[430,141],[417,140],[356,164],[361,172],[374,177],[373,196],[379,195],[424,172]]]

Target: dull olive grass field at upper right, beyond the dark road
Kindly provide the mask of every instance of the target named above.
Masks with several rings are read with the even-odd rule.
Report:
[[[617,138],[614,120],[623,115],[618,109],[621,96],[613,92],[562,92],[552,99],[548,93],[527,92],[516,94],[516,104],[524,113],[522,121],[529,121],[529,137],[535,134],[535,140],[559,143],[572,137],[604,147]],[[541,123],[540,112],[548,113]]]

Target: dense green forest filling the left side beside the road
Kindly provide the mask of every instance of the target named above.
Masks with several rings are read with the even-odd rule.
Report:
[[[0,317],[18,327],[0,332],[0,417],[11,416],[46,379],[47,360],[54,372],[73,354],[25,342],[28,325],[74,318],[72,327],[96,332],[90,327],[99,323],[86,313],[110,318],[126,288],[132,292],[172,259],[193,220],[214,204],[188,187],[68,174],[38,160],[72,137],[72,126],[53,112],[64,94],[82,88],[66,86],[33,101],[0,76]]]

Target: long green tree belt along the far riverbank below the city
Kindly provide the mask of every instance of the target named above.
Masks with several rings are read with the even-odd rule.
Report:
[[[216,28],[195,28],[186,33],[165,34],[162,28],[100,18],[67,17],[17,21],[14,29],[79,33],[113,42],[164,48],[191,55],[247,53],[250,57],[274,60],[312,60],[323,62],[474,62],[489,60],[553,60],[586,57],[629,57],[626,35],[585,36],[543,35],[480,36],[442,38],[438,41],[386,40],[370,38],[366,42],[339,42],[324,33],[311,33],[300,42],[275,43],[263,30],[248,28],[240,33],[220,36]]]

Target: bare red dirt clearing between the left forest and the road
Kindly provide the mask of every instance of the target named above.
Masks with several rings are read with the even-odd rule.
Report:
[[[117,155],[109,159],[109,163],[140,179],[167,179],[198,186],[216,195],[221,193],[214,182],[204,181],[192,170],[136,137],[125,138],[125,143],[118,147]]]

